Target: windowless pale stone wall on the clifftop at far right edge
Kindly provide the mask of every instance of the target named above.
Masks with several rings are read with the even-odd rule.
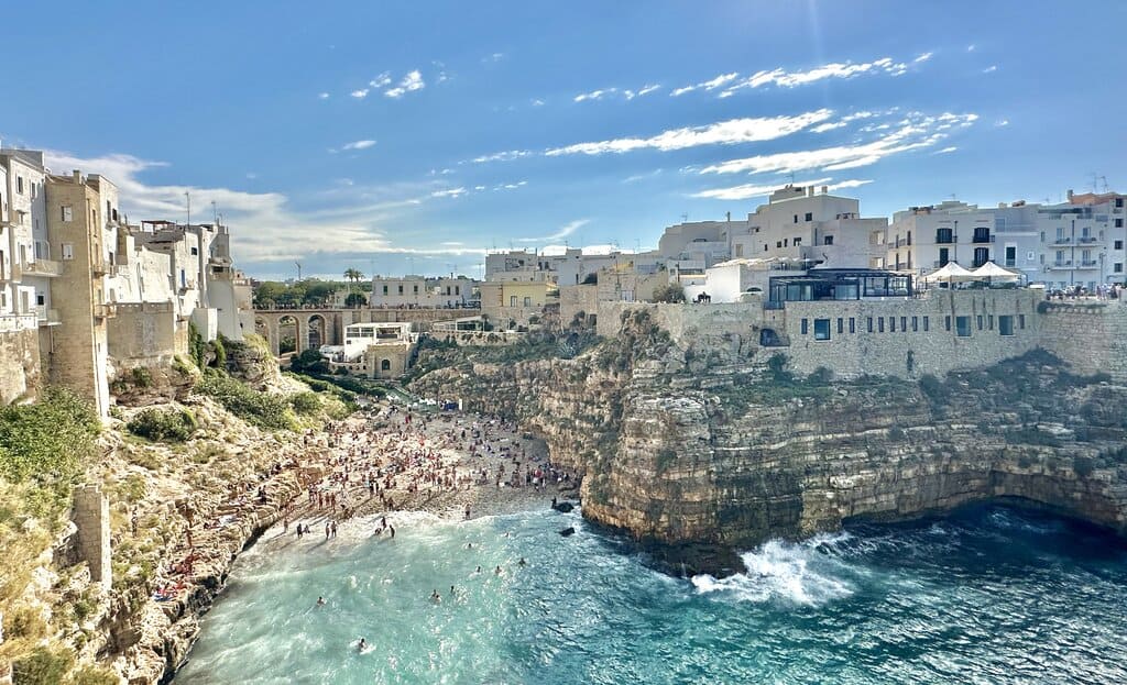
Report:
[[[1108,373],[1127,383],[1127,304],[1045,302],[1040,306],[1041,347],[1076,373]]]

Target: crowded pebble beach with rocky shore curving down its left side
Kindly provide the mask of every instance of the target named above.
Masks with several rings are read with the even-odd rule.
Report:
[[[187,514],[192,533],[162,555],[159,579],[150,588],[156,591],[123,598],[143,606],[122,612],[128,614],[125,624],[110,626],[113,646],[123,656],[127,650],[128,683],[171,682],[234,561],[264,537],[270,549],[284,540],[298,543],[299,522],[311,527],[312,541],[323,541],[326,524],[334,521],[341,531],[357,522],[372,525],[381,516],[391,526],[399,517],[420,514],[458,521],[465,518],[467,506],[470,518],[480,518],[547,509],[553,497],[578,497],[578,481],[551,471],[541,441],[498,419],[412,415],[388,403],[374,410],[298,436],[295,453],[282,450],[260,480],[225,502]],[[538,472],[551,482],[533,487]],[[332,505],[330,495],[338,496]]]

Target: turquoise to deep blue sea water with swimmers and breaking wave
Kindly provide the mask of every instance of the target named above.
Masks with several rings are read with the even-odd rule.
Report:
[[[857,526],[692,581],[575,514],[394,523],[267,534],[176,684],[1127,682],[1127,548],[1059,518]]]

